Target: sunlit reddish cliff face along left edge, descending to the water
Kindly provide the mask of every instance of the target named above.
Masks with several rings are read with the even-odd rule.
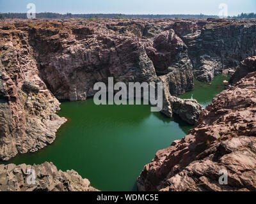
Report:
[[[35,152],[52,143],[66,119],[60,103],[38,77],[27,34],[0,30],[0,159]]]

